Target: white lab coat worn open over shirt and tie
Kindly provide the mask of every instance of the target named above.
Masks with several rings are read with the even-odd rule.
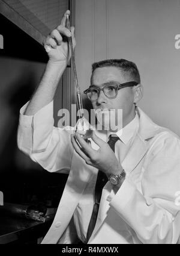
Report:
[[[100,217],[88,243],[178,243],[180,206],[176,203],[176,192],[180,191],[180,140],[176,134],[152,122],[140,108],[137,111],[139,131],[121,163],[126,179],[116,195],[107,182],[101,196]],[[49,122],[53,124],[53,118]],[[36,123],[35,116],[20,115],[19,148],[44,169],[69,173],[55,219],[42,243],[74,243],[77,234],[73,213],[80,198],[93,193],[87,192],[86,186],[98,170],[73,151],[72,130],[44,131],[46,122],[38,121],[38,127]],[[59,134],[61,140],[68,140],[65,155],[67,163],[71,158],[71,166],[66,158],[63,164],[57,160]],[[106,141],[99,131],[97,136]],[[91,145],[98,149],[93,141]]]

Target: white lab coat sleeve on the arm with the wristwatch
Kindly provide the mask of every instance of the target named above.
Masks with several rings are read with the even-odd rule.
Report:
[[[154,145],[143,166],[142,193],[128,176],[110,207],[142,243],[178,243],[180,235],[180,142]],[[178,198],[179,196],[179,198]]]

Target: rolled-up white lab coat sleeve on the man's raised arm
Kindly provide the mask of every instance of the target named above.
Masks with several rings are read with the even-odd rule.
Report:
[[[41,108],[34,116],[24,113],[28,102],[20,109],[17,145],[31,159],[49,172],[69,173],[73,146],[73,128],[53,126],[53,101]]]

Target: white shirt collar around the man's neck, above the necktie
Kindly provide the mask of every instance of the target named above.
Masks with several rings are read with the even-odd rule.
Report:
[[[137,132],[139,128],[139,116],[136,112],[136,116],[133,120],[131,120],[130,123],[128,123],[124,128],[117,131],[116,133],[112,133],[110,131],[107,131],[107,138],[109,138],[110,134],[116,134],[116,136],[119,137],[119,139],[124,143],[127,144],[130,139],[134,136],[134,133]]]

